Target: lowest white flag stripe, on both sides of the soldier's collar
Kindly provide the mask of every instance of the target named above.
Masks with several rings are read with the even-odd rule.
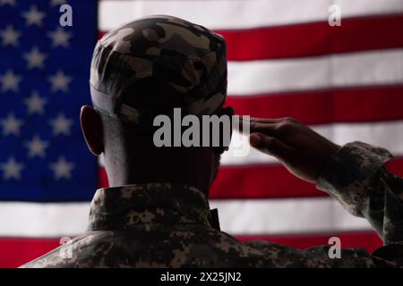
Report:
[[[223,231],[232,234],[367,230],[369,224],[331,198],[212,200]],[[64,237],[85,231],[88,203],[0,203],[0,236]]]

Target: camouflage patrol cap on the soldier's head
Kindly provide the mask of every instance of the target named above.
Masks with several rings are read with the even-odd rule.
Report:
[[[147,92],[139,91],[144,80],[151,80]],[[184,114],[214,114],[227,95],[225,40],[172,16],[131,21],[99,40],[90,91],[97,109],[130,122],[174,107]]]

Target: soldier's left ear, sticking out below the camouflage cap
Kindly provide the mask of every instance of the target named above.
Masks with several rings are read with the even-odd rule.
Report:
[[[80,122],[88,148],[93,155],[99,156],[104,152],[102,119],[99,113],[93,107],[84,105],[81,107]]]

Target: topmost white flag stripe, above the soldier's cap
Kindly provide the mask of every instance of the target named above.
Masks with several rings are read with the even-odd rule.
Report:
[[[173,15],[209,29],[247,29],[328,21],[330,4],[339,4],[341,19],[403,12],[401,0],[104,0],[99,4],[99,29],[114,29],[124,22],[150,14]]]

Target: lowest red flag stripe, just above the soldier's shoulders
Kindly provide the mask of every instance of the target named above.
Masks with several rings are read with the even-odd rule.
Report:
[[[270,240],[275,243],[303,249],[314,245],[325,245],[331,236],[338,236],[341,239],[342,248],[360,247],[372,251],[382,245],[382,241],[373,232],[334,235],[241,236],[237,237],[237,239]],[[0,267],[18,267],[58,246],[58,239],[0,238]]]

